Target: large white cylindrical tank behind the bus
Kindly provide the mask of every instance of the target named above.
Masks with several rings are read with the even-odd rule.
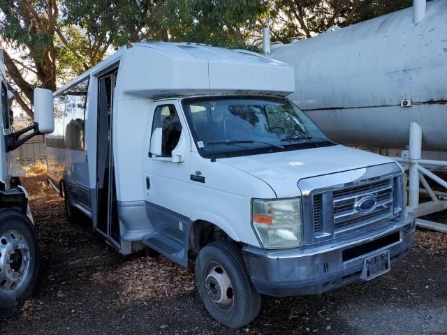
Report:
[[[406,8],[272,49],[295,66],[291,100],[333,140],[402,147],[417,121],[424,149],[447,150],[447,0],[418,24]]]

